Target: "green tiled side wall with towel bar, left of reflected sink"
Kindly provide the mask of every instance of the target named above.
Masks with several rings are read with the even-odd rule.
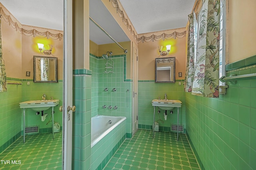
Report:
[[[7,82],[18,82],[8,78]],[[8,84],[7,92],[0,93],[0,153],[9,147],[21,135],[22,85]]]

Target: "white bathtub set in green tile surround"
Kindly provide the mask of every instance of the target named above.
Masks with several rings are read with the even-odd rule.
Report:
[[[122,123],[126,117],[97,115],[92,117],[91,148]]]

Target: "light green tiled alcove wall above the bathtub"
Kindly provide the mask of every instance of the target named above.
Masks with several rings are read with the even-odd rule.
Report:
[[[126,55],[113,55],[114,73],[104,73],[105,59],[90,55],[92,70],[92,117],[96,115],[126,117],[127,133],[132,133],[132,80],[126,79]],[[104,89],[108,88],[108,92]],[[116,88],[116,92],[112,89]],[[118,109],[103,109],[102,106]]]

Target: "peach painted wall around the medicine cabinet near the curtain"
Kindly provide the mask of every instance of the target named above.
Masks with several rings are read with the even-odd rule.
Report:
[[[178,29],[177,32],[185,31],[185,28]],[[155,33],[157,35],[157,33]],[[176,39],[165,39],[160,41],[140,42],[138,43],[138,74],[139,80],[155,79],[155,59],[162,58],[158,52],[158,46],[163,46],[166,51],[166,45],[172,45],[169,55],[164,57],[175,58],[175,79],[184,80],[186,70],[186,37]],[[178,76],[178,72],[182,72],[182,77]]]

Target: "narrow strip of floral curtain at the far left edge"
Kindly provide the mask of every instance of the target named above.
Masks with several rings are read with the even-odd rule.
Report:
[[[3,59],[2,51],[2,34],[1,34],[1,20],[0,20],[0,92],[7,91],[7,80],[6,80],[6,71],[5,64]]]

